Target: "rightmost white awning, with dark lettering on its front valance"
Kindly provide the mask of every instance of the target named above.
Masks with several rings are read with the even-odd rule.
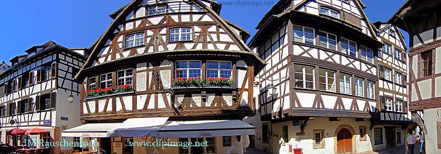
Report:
[[[254,126],[240,120],[204,120],[167,122],[159,129],[161,138],[203,138],[255,134]]]

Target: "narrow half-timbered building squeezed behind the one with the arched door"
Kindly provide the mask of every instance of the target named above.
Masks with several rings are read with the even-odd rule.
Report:
[[[374,149],[384,149],[406,144],[404,130],[414,125],[408,112],[408,55],[404,36],[391,24],[376,22],[374,26],[383,47],[377,56],[380,117],[371,122],[375,124]]]

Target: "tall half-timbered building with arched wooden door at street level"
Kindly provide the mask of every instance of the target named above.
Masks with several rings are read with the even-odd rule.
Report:
[[[359,0],[279,1],[258,23],[249,47],[267,65],[257,76],[260,120],[247,120],[261,125],[256,148],[272,153],[295,147],[304,153],[373,149],[382,43],[364,8]]]

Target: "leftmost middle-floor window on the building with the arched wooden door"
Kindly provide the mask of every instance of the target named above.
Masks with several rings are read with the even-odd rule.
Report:
[[[295,87],[314,89],[314,68],[294,65]]]

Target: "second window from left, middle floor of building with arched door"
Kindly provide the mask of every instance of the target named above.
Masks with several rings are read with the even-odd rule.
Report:
[[[335,91],[335,71],[319,69],[318,81],[320,90]]]

